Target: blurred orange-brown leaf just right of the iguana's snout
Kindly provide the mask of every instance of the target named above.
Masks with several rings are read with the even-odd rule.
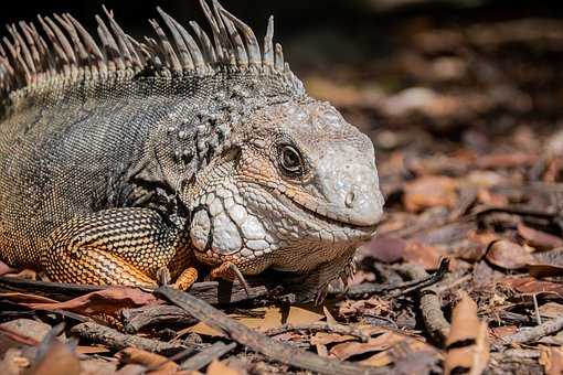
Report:
[[[408,212],[434,206],[453,207],[457,202],[457,182],[452,178],[426,175],[404,186],[403,204]]]

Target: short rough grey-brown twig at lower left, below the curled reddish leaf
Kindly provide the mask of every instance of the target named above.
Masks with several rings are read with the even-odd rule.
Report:
[[[187,349],[185,345],[173,345],[158,340],[124,334],[114,329],[89,322],[73,326],[71,333],[87,340],[89,343],[103,344],[115,351],[132,346],[147,352],[171,355]]]

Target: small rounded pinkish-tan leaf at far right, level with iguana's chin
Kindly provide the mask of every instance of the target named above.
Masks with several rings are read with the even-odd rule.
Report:
[[[485,258],[491,264],[504,269],[521,269],[535,262],[535,258],[524,247],[517,243],[499,239],[491,243]]]

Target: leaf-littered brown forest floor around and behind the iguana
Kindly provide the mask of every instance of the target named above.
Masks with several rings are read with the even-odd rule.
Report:
[[[0,373],[560,374],[563,23],[392,35],[383,57],[300,73],[376,149],[385,216],[347,291],[315,307],[272,278],[187,300],[3,277]]]

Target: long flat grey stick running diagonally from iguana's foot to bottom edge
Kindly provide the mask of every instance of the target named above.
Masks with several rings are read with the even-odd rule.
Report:
[[[346,361],[323,358],[314,353],[304,352],[297,347],[275,341],[264,333],[253,331],[246,325],[229,318],[224,312],[204,301],[170,287],[160,287],[155,290],[155,293],[184,309],[211,328],[226,332],[232,340],[240,344],[262,353],[274,361],[323,374],[358,375],[386,373],[384,368],[373,368]]]

